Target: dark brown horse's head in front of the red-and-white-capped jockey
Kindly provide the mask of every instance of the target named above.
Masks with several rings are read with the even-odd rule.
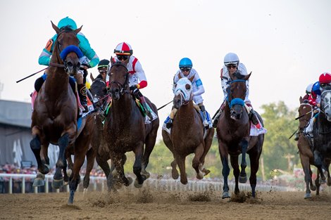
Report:
[[[129,72],[127,67],[121,62],[114,62],[111,58],[111,67],[108,68],[109,86],[111,97],[115,100],[120,99],[120,95],[129,93],[127,87],[129,85]]]

